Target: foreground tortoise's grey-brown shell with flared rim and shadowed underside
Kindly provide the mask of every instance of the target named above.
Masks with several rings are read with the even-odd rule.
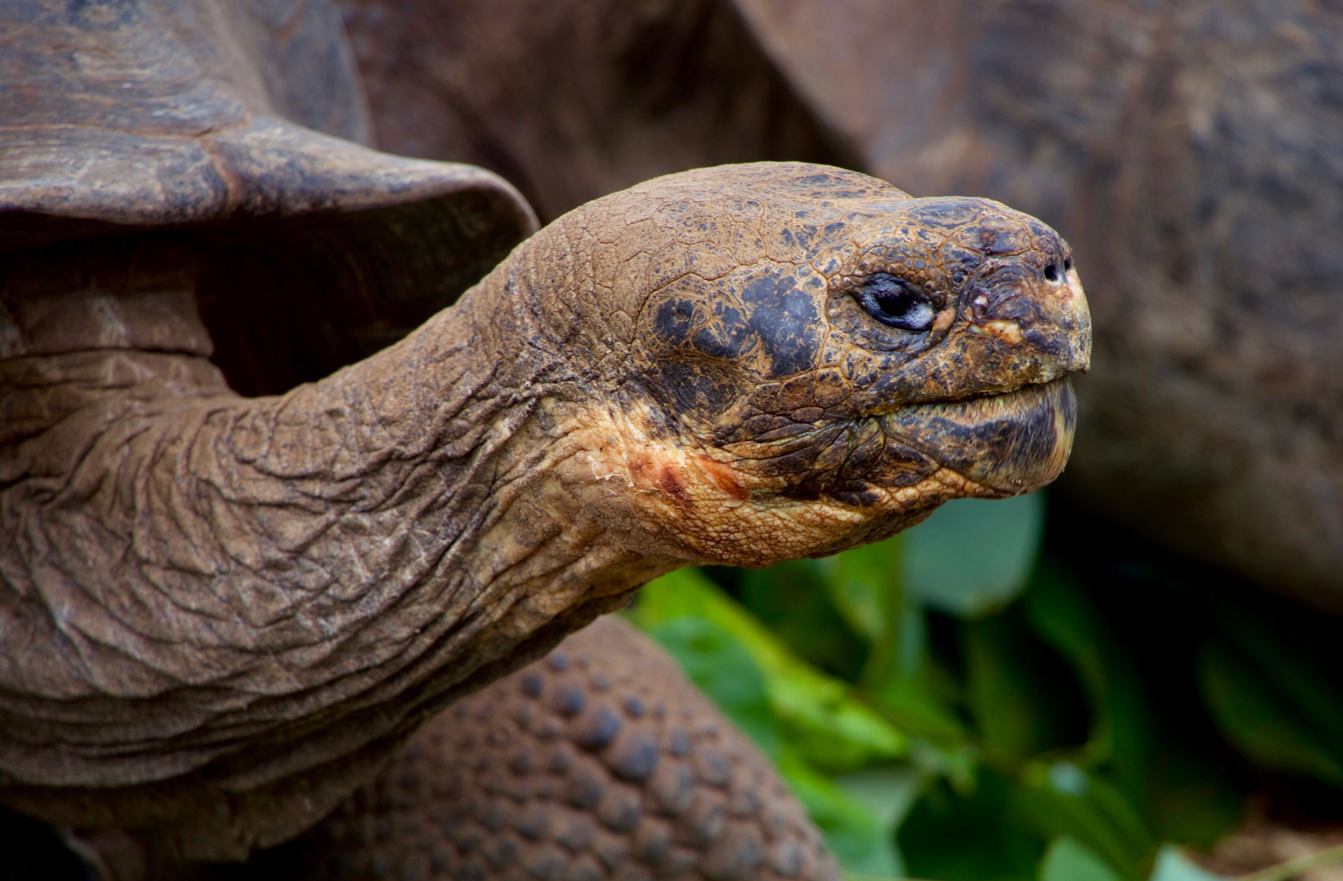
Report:
[[[497,175],[371,141],[329,4],[5,4],[0,359],[214,348],[236,391],[283,391],[404,334],[536,228]],[[140,270],[158,278],[125,278]],[[124,294],[173,274],[208,333],[165,344],[163,309]],[[75,313],[118,310],[124,332],[58,317],[56,290]]]

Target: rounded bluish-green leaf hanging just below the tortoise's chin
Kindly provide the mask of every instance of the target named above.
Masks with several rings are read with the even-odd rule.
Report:
[[[911,596],[964,618],[1002,608],[1026,587],[1045,525],[1042,493],[947,502],[901,536]]]

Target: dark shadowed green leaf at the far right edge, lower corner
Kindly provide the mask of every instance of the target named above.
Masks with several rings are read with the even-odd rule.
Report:
[[[1203,697],[1218,728],[1252,760],[1343,786],[1343,756],[1262,670],[1221,639],[1198,661]]]

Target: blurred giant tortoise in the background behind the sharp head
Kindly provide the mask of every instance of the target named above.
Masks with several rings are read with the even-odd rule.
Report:
[[[712,146],[717,129],[694,122],[729,101],[735,130],[751,114],[788,130],[792,105],[766,99],[768,74],[741,87],[723,60],[764,54],[854,168],[1042,218],[1091,281],[1101,368],[1077,389],[1069,502],[1343,608],[1336,3],[342,8],[388,149],[470,156],[518,181],[557,171],[563,184],[533,188],[543,215],[627,185],[650,154]],[[676,47],[678,77],[631,94],[653,32]],[[700,97],[712,77],[731,83],[720,105]]]

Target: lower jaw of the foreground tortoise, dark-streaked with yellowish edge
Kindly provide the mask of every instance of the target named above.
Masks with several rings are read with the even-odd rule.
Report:
[[[1002,395],[915,404],[880,418],[898,439],[992,494],[1029,493],[1068,463],[1077,426],[1069,379]]]

